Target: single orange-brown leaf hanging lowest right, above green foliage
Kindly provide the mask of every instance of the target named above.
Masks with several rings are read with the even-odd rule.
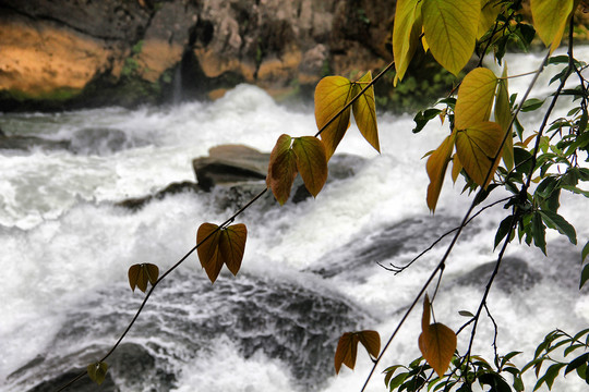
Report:
[[[428,326],[419,335],[419,350],[423,358],[443,377],[456,351],[456,333],[443,323]]]

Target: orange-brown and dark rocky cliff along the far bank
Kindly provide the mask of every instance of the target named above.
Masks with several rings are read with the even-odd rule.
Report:
[[[312,90],[390,60],[390,0],[0,0],[0,111]]]

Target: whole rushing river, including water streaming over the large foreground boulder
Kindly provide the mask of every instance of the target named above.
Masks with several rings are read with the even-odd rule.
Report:
[[[580,50],[580,59],[589,58],[589,48]],[[539,61],[510,56],[509,73],[532,71]],[[529,79],[510,81],[510,88],[522,94]],[[538,114],[522,121],[532,126]],[[158,286],[107,360],[101,390],[359,391],[372,364],[360,350],[356,370],[335,377],[339,335],[374,329],[388,339],[444,246],[398,275],[377,264],[408,262],[458,224],[469,203],[460,195],[462,183],[447,181],[435,216],[429,213],[421,158],[447,128],[433,121],[413,135],[412,125],[410,115],[381,114],[381,155],[352,125],[339,151],[362,158],[350,160],[353,175],[330,182],[316,199],[284,207],[264,200],[241,216],[249,237],[237,278],[221,272],[212,285],[196,256],[190,257]],[[269,151],[283,133],[316,130],[311,107],[279,106],[247,85],[206,103],[3,114],[0,127],[44,138],[25,150],[0,151],[3,391],[50,391],[101,357],[143,298],[129,290],[128,268],[171,267],[194,246],[202,222],[219,223],[233,211],[219,206],[219,195],[205,193],[169,195],[139,210],[117,203],[194,181],[192,159],[216,145]],[[561,210],[581,245],[589,236],[584,203],[566,195]],[[505,216],[497,206],[477,219],[447,262],[435,315],[454,330],[468,320],[458,310],[476,311],[489,273],[482,271],[496,257],[494,231]],[[548,258],[526,245],[508,247],[489,298],[501,353],[524,351],[522,364],[552,329],[587,327],[589,296],[577,289],[579,253],[551,231]],[[381,370],[420,355],[420,314],[409,318]],[[474,352],[491,355],[492,321],[481,320]],[[467,333],[458,340],[464,352]],[[572,376],[561,385],[584,389]],[[81,382],[70,390],[96,389]],[[381,375],[369,390],[384,390]]]

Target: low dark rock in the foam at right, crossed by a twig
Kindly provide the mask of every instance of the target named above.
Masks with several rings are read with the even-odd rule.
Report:
[[[459,284],[484,287],[495,269],[495,261],[486,262],[458,279]],[[529,290],[542,280],[542,274],[517,257],[504,257],[493,285],[506,293]]]

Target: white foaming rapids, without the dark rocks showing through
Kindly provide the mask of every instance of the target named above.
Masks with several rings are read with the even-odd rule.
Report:
[[[588,58],[589,49],[582,50]],[[531,56],[525,61],[520,56],[508,58],[509,73],[534,70],[539,60],[530,59]],[[525,83],[526,79],[513,81],[510,88],[522,93]],[[566,109],[560,112],[563,114]],[[533,120],[528,117],[527,122],[533,123]],[[366,246],[371,237],[390,224],[428,217],[428,176],[421,157],[437,147],[447,130],[432,121],[422,133],[413,135],[412,125],[409,115],[381,115],[382,155],[372,150],[352,125],[339,151],[369,160],[357,175],[330,183],[315,200],[276,206],[240,218],[249,229],[240,273],[341,297],[373,320],[362,328],[375,329],[387,339],[400,311],[410,304],[443,254],[442,247],[397,277],[374,265],[363,267],[363,281],[348,275],[321,279],[304,269],[312,268],[330,253],[341,252],[341,247],[352,241],[353,246]],[[200,223],[224,221],[231,213],[217,211],[206,197],[192,194],[154,200],[137,212],[115,207],[113,203],[154,193],[171,182],[193,181],[191,160],[205,156],[213,146],[247,144],[268,151],[283,133],[299,136],[316,130],[311,108],[289,110],[252,86],[239,86],[213,103],[192,102],[135,111],[112,108],[63,114],[5,114],[0,117],[0,126],[8,133],[24,130],[31,135],[55,139],[72,138],[83,127],[111,127],[122,131],[135,146],[103,156],[43,149],[1,152],[0,270],[4,279],[0,285],[0,388],[8,390],[19,390],[19,387],[7,377],[37,355],[56,350],[74,352],[75,347],[69,347],[67,342],[56,343],[63,323],[70,322],[68,314],[87,307],[87,302],[100,298],[99,293],[108,293],[113,287],[125,287],[124,295],[141,298],[140,293],[132,294],[127,289],[130,265],[154,262],[160,269],[170,267],[194,245]],[[468,197],[459,194],[461,186],[461,183],[455,187],[450,182],[445,184],[436,216],[464,215]],[[582,203],[578,197],[566,197],[561,210],[577,228],[581,245],[589,236],[589,224],[582,213],[578,213],[586,210]],[[474,311],[483,290],[482,286],[459,285],[454,280],[496,257],[492,250],[494,229],[504,216],[501,207],[484,215],[478,221],[478,231],[453,252],[435,302],[435,315],[454,330],[466,321],[458,316],[458,310]],[[557,233],[549,232],[549,238],[552,240],[549,260],[527,246],[514,244],[508,249],[509,256],[518,256],[530,267],[543,271],[543,281],[530,290],[516,290],[510,294],[493,290],[489,299],[489,307],[500,324],[500,352],[526,352],[528,356],[520,363],[530,359],[529,354],[552,329],[574,332],[589,322],[589,296],[567,285],[570,282],[563,281],[558,274],[569,268],[573,274],[577,273],[574,277],[577,279],[580,268],[575,252],[580,249],[573,249]],[[404,264],[423,247],[419,244],[418,249],[386,262]],[[189,277],[194,271],[203,274],[195,256],[180,268],[180,273]],[[348,273],[353,275],[353,272]],[[170,302],[164,305],[179,306],[173,304],[173,297]],[[158,303],[158,306],[164,305]],[[182,307],[185,310],[185,305]],[[208,309],[203,316],[197,310],[191,310],[195,311],[194,318],[214,311]],[[98,307],[98,319],[100,311],[109,309]],[[419,318],[418,309],[390,346],[381,370],[386,365],[407,363],[419,356]],[[124,324],[125,320],[121,322]],[[166,324],[166,320],[161,322]],[[121,332],[120,329],[105,332],[96,339],[108,345]],[[342,332],[329,331],[333,336]],[[163,346],[181,345],[173,340],[158,340],[158,335],[149,339]],[[465,350],[467,339],[466,333],[459,336],[459,350]],[[474,351],[490,355],[492,340],[492,324],[482,319]],[[262,351],[245,358],[240,347],[223,334],[209,345],[212,352],[184,353],[173,358],[172,371],[178,375],[175,391],[296,391],[301,388],[289,364],[269,358]],[[81,362],[73,365],[85,365]],[[371,363],[362,353],[353,372],[346,368],[337,378],[317,382],[323,391],[359,391],[370,367]],[[124,379],[125,376],[133,377],[117,377]],[[44,375],[38,375],[38,380],[43,378]],[[582,384],[574,377],[569,376],[567,381],[566,390],[582,390]],[[382,376],[376,373],[369,390],[383,390],[382,382]],[[533,384],[528,382],[527,387],[531,389]]]

